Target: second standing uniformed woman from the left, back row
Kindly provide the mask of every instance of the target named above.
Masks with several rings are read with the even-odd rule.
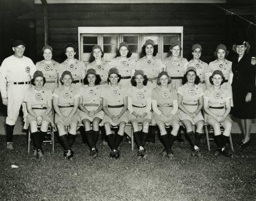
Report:
[[[70,71],[73,77],[72,86],[78,90],[83,85],[82,80],[86,76],[86,65],[84,65],[83,61],[75,59],[76,49],[74,44],[67,43],[64,52],[67,55],[67,59],[59,64],[58,75],[61,77],[64,71]],[[59,86],[61,86],[60,82]]]

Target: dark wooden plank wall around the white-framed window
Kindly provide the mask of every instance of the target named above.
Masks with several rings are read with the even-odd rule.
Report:
[[[87,26],[183,26],[183,56],[191,58],[191,46],[200,43],[202,59],[214,60],[214,51],[225,41],[225,13],[212,4],[49,4],[49,44],[54,59],[65,59],[67,42],[78,47],[77,27]],[[44,46],[42,5],[35,5],[38,60]],[[78,54],[77,54],[78,55]]]

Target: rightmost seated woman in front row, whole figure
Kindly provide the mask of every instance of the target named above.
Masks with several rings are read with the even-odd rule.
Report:
[[[231,154],[225,149],[229,141],[232,121],[229,118],[231,95],[228,90],[222,88],[225,77],[220,70],[216,70],[210,76],[210,83],[213,84],[204,93],[205,121],[214,129],[215,142],[218,147],[216,154],[222,153],[226,157]],[[220,125],[224,127],[221,134]]]

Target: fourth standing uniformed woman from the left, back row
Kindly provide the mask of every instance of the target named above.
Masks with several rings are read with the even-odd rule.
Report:
[[[110,66],[118,69],[118,72],[121,75],[119,84],[124,87],[131,87],[131,78],[137,61],[135,58],[131,57],[132,53],[126,42],[120,43],[116,55],[117,57],[111,61]]]

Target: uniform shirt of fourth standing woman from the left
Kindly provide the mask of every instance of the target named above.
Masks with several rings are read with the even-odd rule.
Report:
[[[135,69],[137,61],[130,57],[130,58],[122,58],[116,57],[115,59],[111,60],[110,66],[111,68],[116,68],[119,71],[121,77],[127,77],[133,75],[133,69]]]

